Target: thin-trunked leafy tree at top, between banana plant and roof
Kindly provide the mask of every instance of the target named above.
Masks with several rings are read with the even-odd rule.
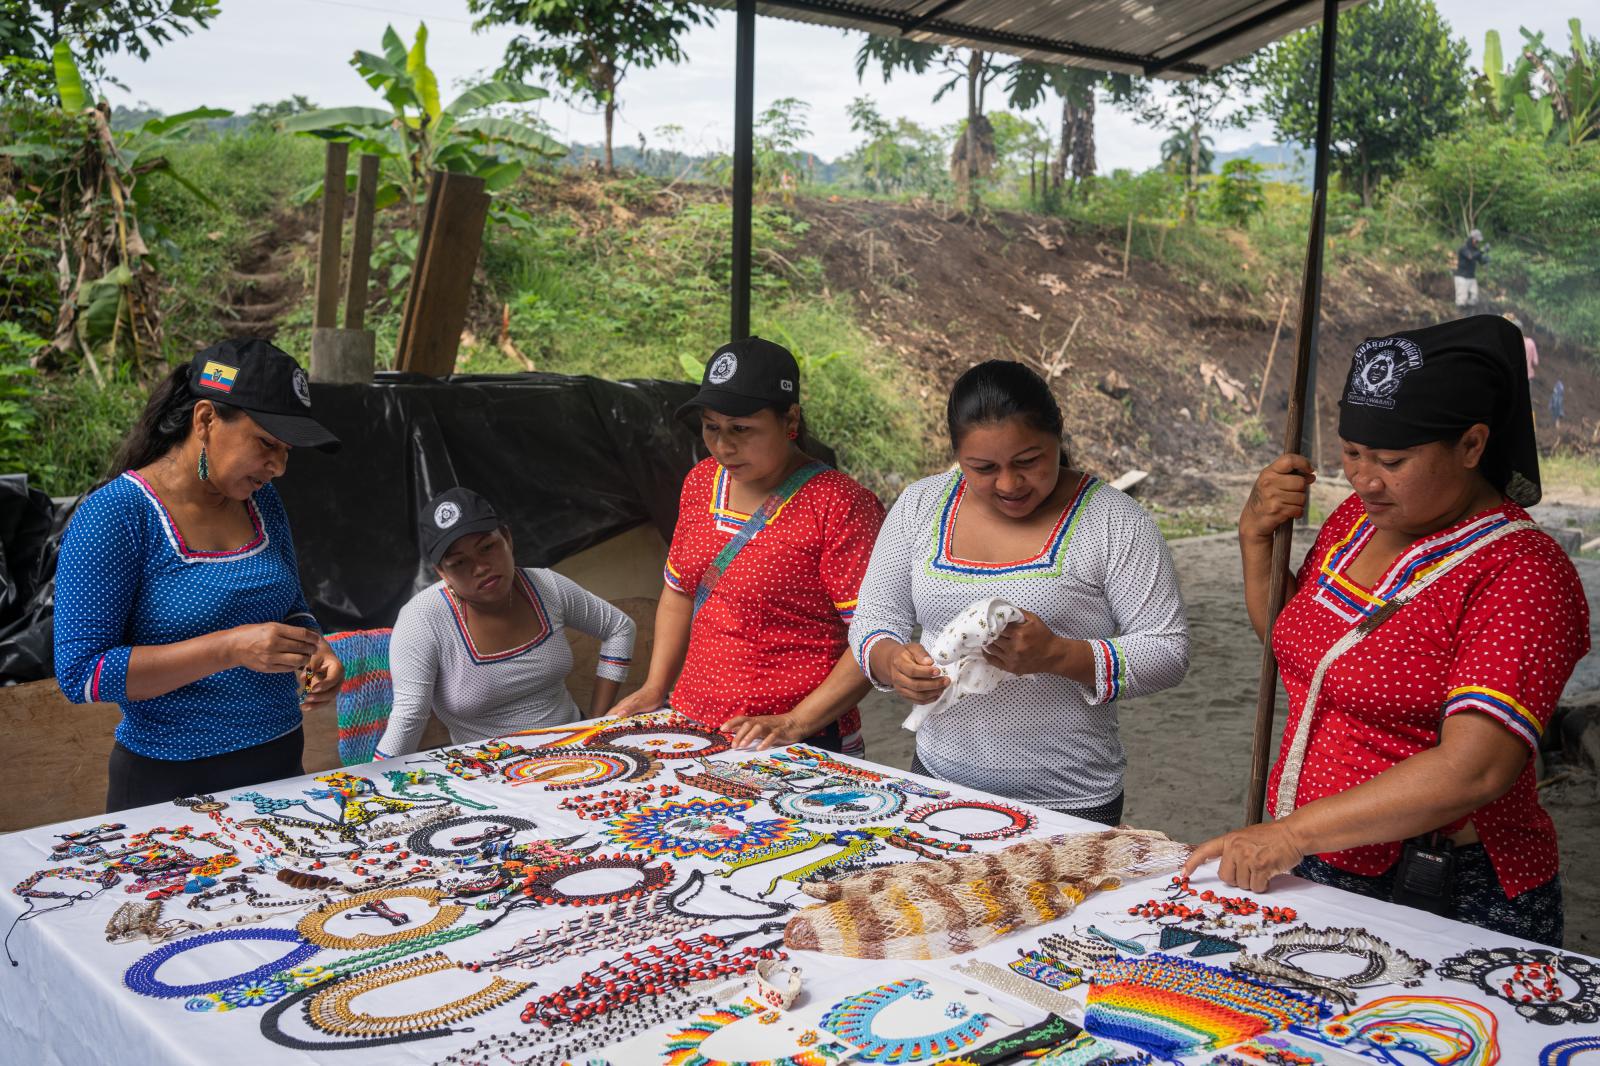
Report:
[[[682,62],[680,38],[714,16],[688,0],[467,0],[474,29],[525,26],[506,46],[501,75],[533,72],[605,110],[605,168],[616,173],[611,131],[618,86],[635,67]]]

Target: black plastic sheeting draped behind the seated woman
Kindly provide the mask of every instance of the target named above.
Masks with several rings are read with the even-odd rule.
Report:
[[[670,538],[683,475],[704,455],[672,418],[694,391],[565,375],[382,373],[371,386],[318,384],[317,418],[344,448],[296,453],[275,482],[312,611],[330,631],[394,624],[434,581],[418,551],[418,511],[451,485],[494,501],[525,567],[645,522]],[[826,447],[808,448],[834,461]],[[58,539],[50,499],[22,477],[0,479],[0,680],[53,672]]]

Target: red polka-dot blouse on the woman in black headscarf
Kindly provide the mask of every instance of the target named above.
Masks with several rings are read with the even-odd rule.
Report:
[[[1395,559],[1374,587],[1347,576],[1371,539],[1360,498],[1328,519],[1306,555],[1294,597],[1272,632],[1290,695],[1290,744],[1310,677],[1328,648],[1438,562],[1528,512],[1514,503],[1427,536]],[[1312,709],[1296,807],[1370,781],[1438,743],[1442,717],[1486,714],[1528,744],[1509,792],[1469,818],[1506,893],[1557,874],[1555,826],[1539,807],[1533,751],[1566,679],[1589,651],[1589,602],[1571,560],[1542,530],[1518,530],[1474,552],[1390,621],[1334,661]],[[1272,770],[1275,795],[1283,759]],[[1352,874],[1382,874],[1400,842],[1322,856]]]

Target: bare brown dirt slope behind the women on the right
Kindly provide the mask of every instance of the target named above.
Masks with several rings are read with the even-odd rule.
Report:
[[[1203,495],[1197,474],[1237,471],[1275,453],[1298,287],[1256,423],[1280,295],[1245,303],[1139,258],[1123,277],[1122,234],[1030,214],[998,213],[974,226],[882,202],[802,200],[795,210],[811,222],[800,251],[822,259],[830,288],[854,296],[864,325],[926,378],[934,397],[973,362],[1030,362],[1051,378],[1080,461],[1112,475],[1157,472],[1152,488],[1165,482],[1157,493],[1171,503]],[[1368,336],[1453,317],[1450,291],[1443,272],[1403,275],[1376,262],[1328,279],[1318,343],[1325,463],[1338,463],[1334,424],[1349,354]],[[1536,410],[1547,411],[1550,384],[1565,379],[1565,442],[1590,443],[1600,429],[1594,357],[1539,339]]]

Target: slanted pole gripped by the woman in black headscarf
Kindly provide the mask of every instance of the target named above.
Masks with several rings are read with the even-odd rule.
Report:
[[[1317,379],[1317,320],[1322,309],[1322,245],[1328,208],[1328,141],[1333,125],[1333,59],[1339,34],[1339,0],[1322,3],[1322,66],[1317,70],[1317,138],[1312,168],[1310,234],[1306,238],[1306,274],[1301,279],[1301,319],[1294,336],[1294,379],[1290,410],[1283,424],[1283,450],[1299,451],[1306,440],[1306,387]],[[1267,799],[1267,757],[1278,703],[1278,661],[1272,655],[1272,626],[1288,592],[1290,554],[1294,523],[1285,522],[1272,533],[1272,570],[1267,586],[1267,632],[1261,642],[1261,679],[1256,690],[1256,727],[1250,752],[1250,792],[1245,797],[1245,824],[1261,821]],[[1306,712],[1310,714],[1312,707]]]

